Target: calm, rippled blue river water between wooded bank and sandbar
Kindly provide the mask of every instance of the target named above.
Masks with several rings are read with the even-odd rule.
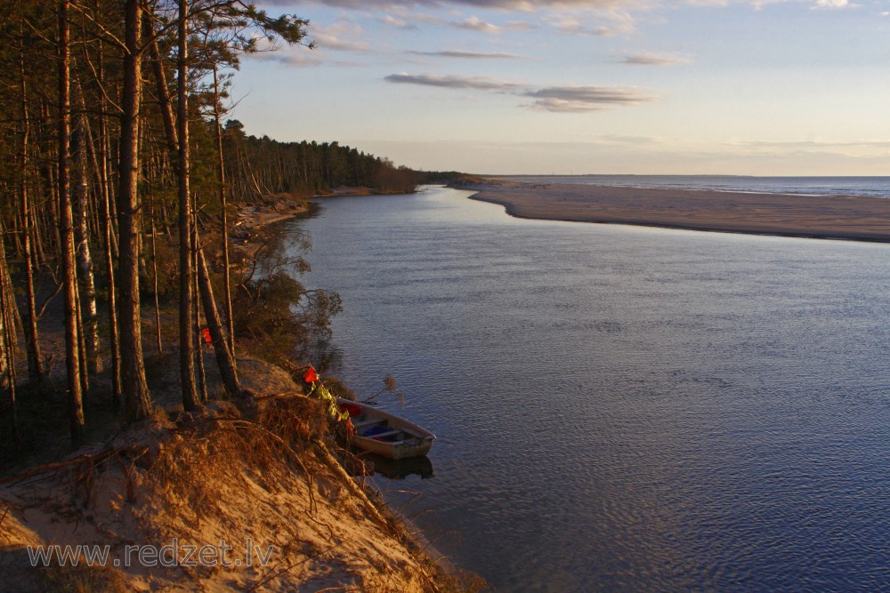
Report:
[[[433,477],[376,477],[436,549],[503,591],[890,587],[890,245],[467,196],[290,223],[337,374],[439,437]]]

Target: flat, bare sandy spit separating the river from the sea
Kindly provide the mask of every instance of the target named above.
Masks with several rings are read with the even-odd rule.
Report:
[[[890,243],[890,199],[490,180],[457,184],[518,218]]]

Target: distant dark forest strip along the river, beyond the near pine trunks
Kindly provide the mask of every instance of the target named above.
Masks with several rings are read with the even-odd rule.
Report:
[[[306,194],[340,186],[367,187],[382,193],[407,193],[418,174],[395,167],[379,156],[335,142],[279,142],[247,136],[244,126],[229,120],[223,131],[223,154],[231,172],[231,199],[252,201],[271,194]]]

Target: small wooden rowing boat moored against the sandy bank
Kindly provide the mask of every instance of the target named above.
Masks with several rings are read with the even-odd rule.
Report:
[[[350,443],[389,459],[406,459],[429,453],[436,436],[417,424],[373,405],[337,397],[340,410],[349,413],[355,434]]]

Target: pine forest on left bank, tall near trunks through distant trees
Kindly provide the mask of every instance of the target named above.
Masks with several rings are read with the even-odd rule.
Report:
[[[158,329],[145,344],[178,349],[186,410],[206,398],[202,330],[226,389],[238,394],[238,311],[260,310],[269,283],[231,277],[231,203],[339,185],[405,191],[413,172],[336,143],[257,139],[230,118],[239,56],[261,44],[309,51],[306,20],[273,18],[240,0],[2,5],[0,411],[11,426],[0,431],[18,435],[19,376],[46,385],[51,357],[38,321],[51,302],[64,326],[75,444],[85,435],[85,394],[103,372],[123,420],[150,414],[147,307]],[[162,340],[158,283],[178,310],[174,340]],[[233,307],[236,292],[243,306]],[[299,309],[295,319],[306,325],[325,325],[339,306],[298,285],[287,292],[300,306],[284,309]],[[16,365],[21,350],[27,369]]]

